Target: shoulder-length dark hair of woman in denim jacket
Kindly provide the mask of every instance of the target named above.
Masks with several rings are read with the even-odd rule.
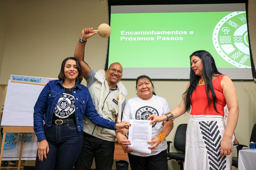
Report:
[[[80,84],[83,80],[82,67],[81,67],[78,59],[76,59],[75,57],[67,57],[62,61],[60,73],[58,75],[58,79],[62,80],[62,81],[65,81],[66,76],[65,76],[65,73],[64,73],[64,67],[65,67],[65,64],[66,64],[67,60],[75,60],[76,61],[76,68],[77,68],[77,71],[78,71],[77,80],[78,80],[78,83]]]

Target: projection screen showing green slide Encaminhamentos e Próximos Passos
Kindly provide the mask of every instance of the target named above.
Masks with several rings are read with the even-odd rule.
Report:
[[[189,56],[207,50],[233,80],[252,80],[245,3],[110,6],[108,63],[122,79],[189,79]]]

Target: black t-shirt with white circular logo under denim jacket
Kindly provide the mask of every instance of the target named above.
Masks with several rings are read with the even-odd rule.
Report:
[[[75,98],[72,89],[65,88],[64,93],[58,100],[58,103],[53,111],[53,120],[58,119],[75,119]]]

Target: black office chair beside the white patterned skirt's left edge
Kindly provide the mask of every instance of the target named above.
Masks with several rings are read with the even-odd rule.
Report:
[[[185,144],[186,144],[186,131],[187,124],[181,124],[178,126],[175,136],[174,136],[174,148],[176,150],[182,151],[182,153],[170,152],[170,143],[171,141],[167,141],[167,157],[168,160],[175,159],[180,165],[180,170],[183,170],[183,162],[185,160]]]

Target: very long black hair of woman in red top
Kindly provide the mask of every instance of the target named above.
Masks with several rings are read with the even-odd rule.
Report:
[[[221,73],[218,71],[215,61],[209,52],[207,52],[205,50],[195,51],[189,56],[190,60],[191,60],[191,57],[194,55],[201,59],[202,65],[203,65],[203,78],[204,78],[204,82],[205,82],[205,92],[206,92],[207,100],[208,100],[208,104],[207,104],[206,108],[210,106],[211,102],[213,102],[214,110],[217,113],[219,113],[216,108],[217,98],[216,98],[216,94],[213,90],[212,76],[213,76],[213,74],[221,74]],[[190,63],[190,77],[189,77],[190,85],[189,85],[187,91],[185,93],[183,93],[183,95],[182,95],[183,98],[185,99],[185,108],[187,111],[190,111],[190,109],[191,109],[192,93],[196,89],[196,86],[200,79],[200,76],[195,74],[195,72],[191,68],[191,65],[192,64]],[[210,92],[212,94],[211,97],[209,96]]]

